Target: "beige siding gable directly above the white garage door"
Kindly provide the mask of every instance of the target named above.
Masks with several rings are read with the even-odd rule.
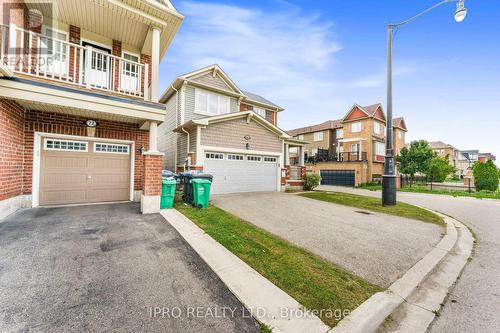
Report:
[[[235,119],[211,124],[201,130],[201,144],[221,148],[246,149],[245,136],[250,136],[250,150],[281,153],[282,142],[278,135],[255,121]]]

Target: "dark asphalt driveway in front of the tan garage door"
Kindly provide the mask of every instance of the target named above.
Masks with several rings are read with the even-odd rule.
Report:
[[[159,214],[138,211],[37,208],[1,222],[0,331],[260,331]]]

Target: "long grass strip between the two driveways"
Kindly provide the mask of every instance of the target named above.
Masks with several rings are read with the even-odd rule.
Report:
[[[329,326],[382,290],[319,256],[217,207],[175,208]],[[322,310],[322,311],[320,311]],[[335,315],[336,314],[336,315]]]

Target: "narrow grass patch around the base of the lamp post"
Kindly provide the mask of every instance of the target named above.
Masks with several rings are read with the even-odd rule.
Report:
[[[407,217],[428,223],[434,223],[445,227],[443,219],[433,212],[416,207],[407,203],[398,202],[395,206],[382,206],[380,198],[367,197],[363,195],[341,193],[341,192],[309,192],[299,194],[306,198],[317,199],[336,204],[352,206],[360,209],[371,210],[374,212]]]

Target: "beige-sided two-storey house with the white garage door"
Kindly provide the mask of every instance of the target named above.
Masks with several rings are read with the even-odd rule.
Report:
[[[167,110],[158,128],[165,169],[212,174],[212,193],[303,184],[303,162],[291,167],[284,149],[305,142],[277,126],[283,108],[241,90],[218,65],[177,77],[160,102]]]

